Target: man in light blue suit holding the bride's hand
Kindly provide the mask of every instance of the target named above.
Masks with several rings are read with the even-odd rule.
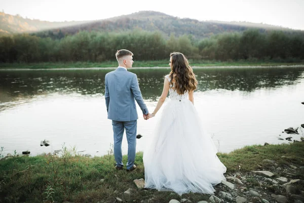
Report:
[[[115,56],[119,64],[118,68],[105,75],[105,105],[108,119],[112,120],[115,168],[122,170],[124,166],[122,161],[122,141],[126,129],[128,140],[127,171],[133,171],[136,168],[134,160],[138,119],[135,100],[142,111],[144,119],[146,119],[149,112],[141,96],[136,74],[127,70],[132,67],[133,53],[129,50],[121,49],[116,52]]]

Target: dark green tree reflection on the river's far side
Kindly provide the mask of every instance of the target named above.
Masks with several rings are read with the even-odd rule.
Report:
[[[111,70],[0,71],[0,111],[37,95],[80,94],[102,96],[104,76]],[[137,74],[144,99],[156,101],[169,69],[131,69]],[[252,92],[261,88],[294,85],[303,77],[304,67],[195,69],[197,91],[213,89]]]

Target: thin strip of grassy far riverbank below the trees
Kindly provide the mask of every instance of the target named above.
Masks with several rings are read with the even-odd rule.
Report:
[[[198,61],[190,60],[192,66],[280,66],[280,65],[304,65],[299,62],[277,61]],[[169,67],[168,60],[159,61],[135,61],[134,67]],[[104,62],[41,62],[41,63],[0,63],[0,69],[61,69],[77,67],[117,67],[117,61]]]

